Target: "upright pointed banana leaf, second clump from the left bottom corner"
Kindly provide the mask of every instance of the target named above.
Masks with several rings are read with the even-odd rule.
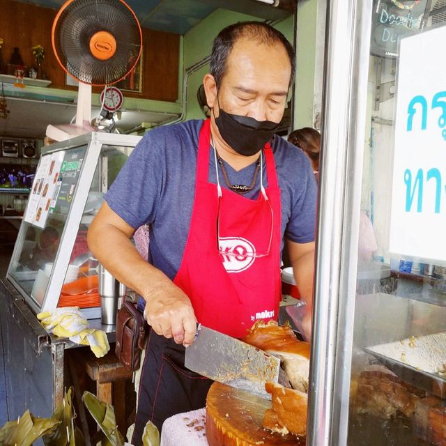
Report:
[[[54,426],[54,429],[51,432],[43,436],[43,443],[45,443],[46,446],[75,446],[76,439],[78,445],[84,443],[82,432],[73,422],[76,413],[72,406],[72,392],[73,388],[70,387],[68,392],[65,392],[63,395],[62,403],[52,416],[54,420],[58,420],[60,423]]]

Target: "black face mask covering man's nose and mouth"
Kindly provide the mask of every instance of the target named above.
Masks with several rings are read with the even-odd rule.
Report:
[[[226,144],[243,156],[259,153],[280,125],[280,123],[257,121],[248,116],[226,113],[221,108],[218,118],[215,118],[215,124]]]

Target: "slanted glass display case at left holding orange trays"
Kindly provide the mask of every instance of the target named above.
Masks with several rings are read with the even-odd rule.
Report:
[[[7,273],[35,312],[75,305],[100,317],[86,233],[140,139],[93,132],[43,148]]]

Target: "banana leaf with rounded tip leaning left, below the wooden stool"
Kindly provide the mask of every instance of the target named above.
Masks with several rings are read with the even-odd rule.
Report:
[[[95,422],[98,423],[101,431],[105,434],[103,446],[123,446],[124,438],[116,426],[114,408],[107,403],[100,401],[95,395],[85,391],[82,395],[82,401],[91,413]]]

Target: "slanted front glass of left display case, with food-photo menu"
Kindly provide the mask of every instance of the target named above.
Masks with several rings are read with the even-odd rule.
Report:
[[[40,158],[8,273],[26,294],[43,302],[59,250],[86,146]]]

